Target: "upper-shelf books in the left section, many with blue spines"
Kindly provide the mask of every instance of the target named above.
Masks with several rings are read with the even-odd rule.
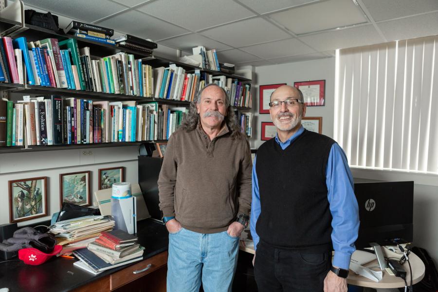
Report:
[[[134,55],[94,57],[77,40],[2,37],[0,82],[150,97],[152,67]],[[23,67],[24,64],[24,67]],[[24,68],[24,70],[23,70]],[[25,79],[25,80],[24,80]]]

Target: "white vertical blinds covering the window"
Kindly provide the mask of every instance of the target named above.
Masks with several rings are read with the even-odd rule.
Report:
[[[350,166],[438,174],[438,36],[336,51],[334,139]]]

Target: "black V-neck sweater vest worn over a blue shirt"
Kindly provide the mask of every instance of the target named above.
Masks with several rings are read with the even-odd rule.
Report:
[[[258,148],[261,213],[256,232],[263,242],[321,252],[331,248],[326,167],[333,143],[304,130],[284,150],[274,138]]]

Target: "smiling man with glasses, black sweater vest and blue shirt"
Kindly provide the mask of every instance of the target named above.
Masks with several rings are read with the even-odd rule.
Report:
[[[298,89],[279,87],[269,106],[277,135],[258,148],[253,166],[258,291],[347,292],[359,229],[347,157],[331,138],[303,128]]]

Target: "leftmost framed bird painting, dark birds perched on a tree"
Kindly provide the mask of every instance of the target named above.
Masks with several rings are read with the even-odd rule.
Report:
[[[47,216],[47,177],[8,181],[9,222]]]

